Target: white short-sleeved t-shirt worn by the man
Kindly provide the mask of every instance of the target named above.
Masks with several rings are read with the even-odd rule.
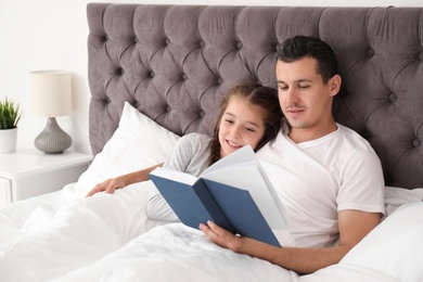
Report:
[[[328,136],[295,144],[285,126],[257,155],[297,246],[334,245],[339,210],[384,213],[381,162],[369,142],[347,127],[337,124]]]

